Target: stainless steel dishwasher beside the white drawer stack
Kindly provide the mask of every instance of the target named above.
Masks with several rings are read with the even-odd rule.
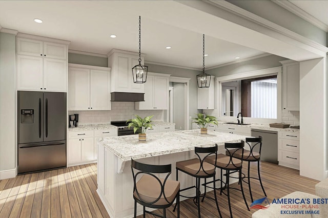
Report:
[[[262,136],[261,161],[278,164],[278,132],[262,129],[252,129],[251,132],[254,137]]]

